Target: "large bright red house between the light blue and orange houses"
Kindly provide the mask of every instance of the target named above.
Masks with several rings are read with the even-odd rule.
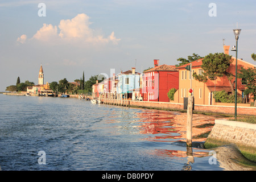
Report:
[[[179,89],[179,71],[174,65],[158,65],[144,71],[141,94],[143,101],[169,102],[167,93],[171,88]]]

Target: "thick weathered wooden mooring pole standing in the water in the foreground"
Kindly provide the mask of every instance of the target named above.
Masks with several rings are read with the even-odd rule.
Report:
[[[188,96],[187,108],[187,146],[192,147],[192,115],[193,115],[193,96]]]

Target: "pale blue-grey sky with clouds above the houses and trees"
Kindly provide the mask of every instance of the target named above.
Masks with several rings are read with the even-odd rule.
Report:
[[[0,0],[0,91],[18,77],[38,84],[41,64],[45,83],[73,82],[224,52],[237,26],[238,58],[256,64],[255,8],[254,0]]]

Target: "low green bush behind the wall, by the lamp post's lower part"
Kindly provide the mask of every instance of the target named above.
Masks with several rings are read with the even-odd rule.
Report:
[[[228,94],[225,90],[213,92],[216,102],[234,103],[235,94]],[[237,103],[242,103],[242,98],[237,97]]]

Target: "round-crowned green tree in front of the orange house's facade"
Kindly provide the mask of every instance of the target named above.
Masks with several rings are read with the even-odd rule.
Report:
[[[209,55],[204,57],[202,61],[201,68],[203,68],[204,72],[201,75],[197,75],[194,73],[193,76],[196,80],[207,82],[209,80],[215,80],[217,77],[223,77],[224,75],[228,77],[229,85],[234,93],[234,85],[232,83],[233,75],[227,72],[230,64],[232,63],[232,56],[226,55],[224,53],[210,53]]]

